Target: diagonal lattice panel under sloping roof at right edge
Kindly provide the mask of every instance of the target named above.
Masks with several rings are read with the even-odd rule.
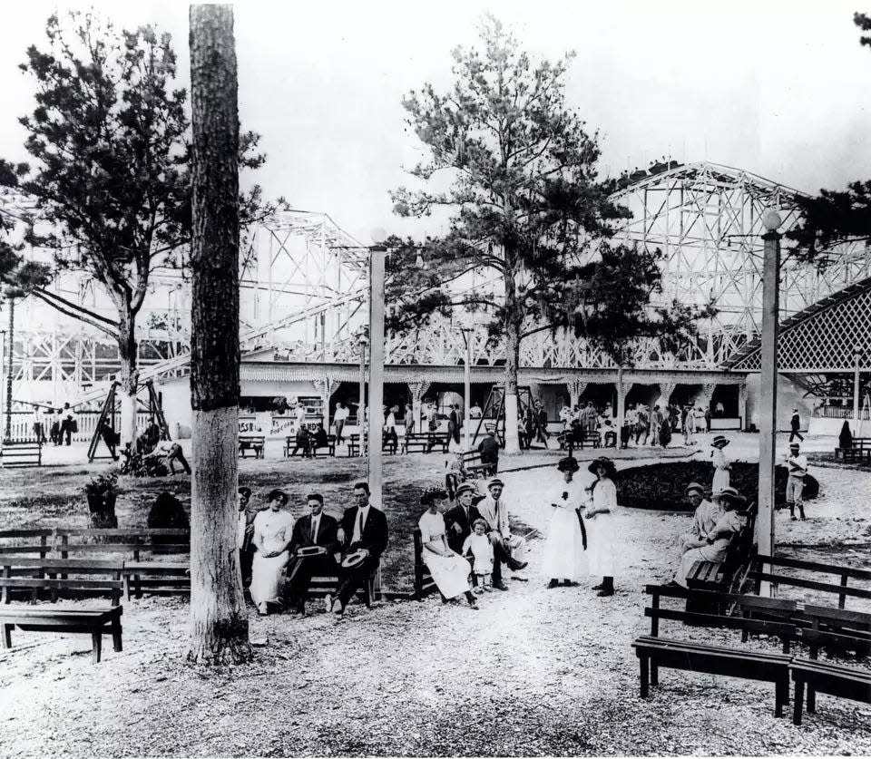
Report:
[[[739,372],[758,372],[761,354],[754,341],[729,362]],[[781,324],[781,372],[849,373],[871,369],[871,277],[791,316]]]

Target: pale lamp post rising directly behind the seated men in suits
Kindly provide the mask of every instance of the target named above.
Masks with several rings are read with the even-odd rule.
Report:
[[[372,230],[375,245],[369,248],[369,493],[381,508],[381,441],[384,432],[384,259],[387,237],[383,229]]]

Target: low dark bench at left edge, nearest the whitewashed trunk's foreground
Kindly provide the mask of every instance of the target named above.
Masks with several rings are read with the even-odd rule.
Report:
[[[103,635],[111,635],[115,651],[122,650],[123,608],[2,608],[3,647],[12,647],[12,630],[60,633],[90,633],[93,663],[103,656]]]

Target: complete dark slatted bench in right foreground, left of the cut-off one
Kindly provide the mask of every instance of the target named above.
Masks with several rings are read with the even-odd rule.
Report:
[[[788,665],[791,657],[788,653],[790,643],[798,638],[798,628],[795,625],[768,620],[744,617],[729,617],[717,614],[700,614],[681,611],[680,609],[660,608],[659,597],[668,595],[681,597],[686,594],[688,602],[695,591],[660,588],[648,586],[648,592],[654,596],[653,606],[644,609],[644,615],[651,618],[651,635],[635,639],[635,648],[641,668],[641,697],[649,695],[650,686],[659,685],[659,667],[670,669],[685,669],[691,672],[706,672],[710,675],[740,677],[749,680],[761,680],[773,683],[775,686],[775,716],[783,715],[783,706],[789,700]],[[702,592],[700,595],[717,595]],[[697,599],[698,605],[717,604],[710,598]],[[684,624],[710,628],[738,629],[744,633],[755,632],[773,635],[781,638],[783,653],[768,654],[746,649],[708,646],[685,640],[659,637],[661,619],[671,619]]]

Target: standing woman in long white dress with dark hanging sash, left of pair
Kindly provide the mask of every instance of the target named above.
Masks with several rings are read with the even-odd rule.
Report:
[[[574,479],[580,468],[573,456],[560,461],[557,469],[563,472],[563,480],[553,487],[545,501],[553,510],[542,561],[544,576],[551,579],[548,589],[556,588],[561,579],[565,585],[577,585],[589,572],[586,532],[579,511],[586,497],[582,483]]]

